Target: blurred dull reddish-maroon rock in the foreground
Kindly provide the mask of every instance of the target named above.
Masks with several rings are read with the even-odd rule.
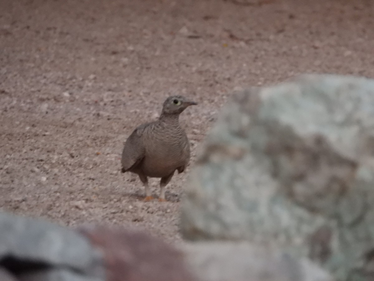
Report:
[[[105,255],[107,281],[194,281],[183,253],[135,230],[81,227]]]

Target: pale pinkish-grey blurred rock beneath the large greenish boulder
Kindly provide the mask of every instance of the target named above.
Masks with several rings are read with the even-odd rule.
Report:
[[[332,281],[308,259],[247,242],[196,242],[183,246],[186,262],[201,281]]]

